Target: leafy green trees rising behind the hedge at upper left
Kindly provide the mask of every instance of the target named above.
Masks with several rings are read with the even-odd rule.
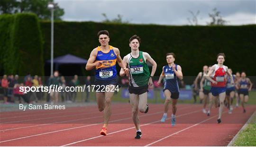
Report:
[[[39,19],[50,19],[51,12],[47,8],[48,2],[53,2],[53,0],[0,0],[0,14],[31,12],[35,13]],[[54,19],[61,20],[64,9],[55,3],[54,13]]]

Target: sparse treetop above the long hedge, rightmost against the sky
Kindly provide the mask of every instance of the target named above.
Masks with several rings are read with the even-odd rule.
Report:
[[[225,24],[228,23],[228,21],[222,19],[222,17],[220,16],[220,11],[217,10],[217,8],[214,8],[212,10],[213,12],[211,14],[209,14],[209,17],[211,18],[211,22],[207,24],[209,26],[224,26]]]

